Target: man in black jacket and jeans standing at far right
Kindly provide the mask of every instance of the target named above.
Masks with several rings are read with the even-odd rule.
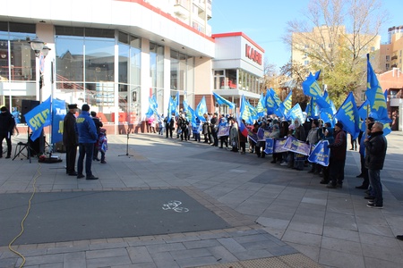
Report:
[[[375,122],[371,128],[371,136],[364,139],[365,146],[365,167],[368,169],[368,175],[371,187],[373,188],[374,199],[368,202],[368,207],[382,208],[382,185],[381,170],[385,162],[386,149],[388,142],[383,136],[383,124]]]

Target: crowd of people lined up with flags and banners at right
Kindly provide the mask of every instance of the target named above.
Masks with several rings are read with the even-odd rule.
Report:
[[[239,130],[236,118],[232,115],[219,113],[205,113],[204,121],[196,119],[196,125],[192,125],[186,119],[185,113],[180,111],[179,115],[161,116],[159,119],[159,134],[165,132],[166,138],[180,138],[182,141],[197,141],[210,144],[213,147],[226,148],[232,152],[246,153],[246,144],[249,145],[249,152],[257,157],[265,158],[266,138],[274,140],[294,137],[311,147],[317,145],[321,140],[327,140],[330,148],[329,165],[309,163],[306,155],[300,155],[291,151],[274,152],[270,163],[279,163],[282,166],[304,171],[308,168],[309,173],[322,178],[319,183],[327,188],[342,188],[344,181],[344,168],[347,156],[347,132],[343,130],[341,121],[337,122],[334,128],[330,122],[322,120],[307,119],[304,123],[299,118],[294,121],[281,120],[278,117],[264,116],[255,121],[253,125],[244,125],[248,129],[248,135]],[[366,132],[361,132],[358,137],[361,174],[357,178],[363,178],[362,185],[356,186],[364,189],[368,199],[368,206],[382,208],[382,186],[380,182],[380,170],[382,170],[386,155],[386,138],[383,137],[383,125],[374,122],[373,118],[367,119]],[[202,138],[201,138],[202,135]],[[351,139],[353,150],[356,150],[356,141]],[[354,146],[354,147],[353,147]]]

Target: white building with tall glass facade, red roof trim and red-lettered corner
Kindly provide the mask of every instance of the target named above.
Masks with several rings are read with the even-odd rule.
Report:
[[[177,93],[193,108],[206,96],[209,110],[219,109],[212,96],[213,90],[223,89],[215,88],[216,71],[223,71],[223,80],[233,81],[231,88],[240,89],[224,94],[229,100],[237,101],[244,93],[259,98],[256,88],[263,66],[262,61],[256,63],[255,54],[263,57],[264,51],[243,33],[233,42],[219,41],[226,36],[211,37],[211,4],[48,0],[39,7],[29,0],[4,0],[0,105],[21,110],[22,100],[44,101],[49,96],[79,107],[87,103],[113,128],[109,133],[123,133],[126,125],[141,126],[146,120],[152,95],[159,114],[167,115],[169,97]],[[46,57],[37,58],[30,49],[36,37],[50,48]],[[239,50],[232,61],[231,55],[219,55],[226,46]],[[214,67],[223,57],[227,65]],[[44,81],[40,89],[39,70]]]

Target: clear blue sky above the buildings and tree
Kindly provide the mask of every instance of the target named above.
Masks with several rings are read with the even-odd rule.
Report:
[[[281,37],[287,21],[301,17],[309,0],[213,0],[209,21],[213,34],[242,31],[264,49],[264,57],[278,69],[290,58],[289,48]],[[383,0],[383,8],[390,18],[382,26],[382,42],[387,41],[388,28],[403,25],[401,0]]]

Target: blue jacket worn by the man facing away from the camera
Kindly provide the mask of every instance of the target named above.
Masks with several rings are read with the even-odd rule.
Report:
[[[81,111],[76,120],[75,130],[79,143],[96,143],[98,140],[97,128],[89,112]]]

